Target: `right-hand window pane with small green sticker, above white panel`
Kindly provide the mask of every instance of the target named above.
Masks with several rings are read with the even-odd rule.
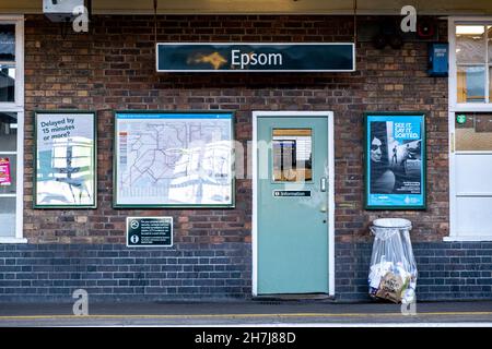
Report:
[[[456,151],[492,151],[492,115],[457,112]]]

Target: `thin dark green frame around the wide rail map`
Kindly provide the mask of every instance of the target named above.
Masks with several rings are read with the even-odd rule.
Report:
[[[118,122],[117,115],[125,113],[141,113],[141,115],[153,115],[153,113],[178,113],[178,115],[231,115],[231,203],[229,204],[120,204],[118,203],[118,147],[117,147],[117,132]],[[186,118],[184,118],[186,119]],[[235,208],[235,149],[234,149],[234,124],[235,124],[235,111],[219,109],[219,110],[114,110],[114,137],[113,137],[113,208]]]

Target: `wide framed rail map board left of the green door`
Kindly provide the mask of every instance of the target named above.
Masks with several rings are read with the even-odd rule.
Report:
[[[234,207],[232,111],[116,111],[114,207]]]

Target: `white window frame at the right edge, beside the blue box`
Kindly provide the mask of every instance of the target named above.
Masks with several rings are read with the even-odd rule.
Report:
[[[458,103],[457,101],[457,63],[456,63],[456,25],[492,25],[492,16],[452,16],[448,19],[448,40],[449,40],[449,75],[448,75],[448,130],[449,130],[449,236],[444,241],[492,241],[492,236],[460,236],[456,230],[456,159],[457,155],[465,154],[492,154],[492,152],[456,152],[455,151],[455,115],[456,112],[491,112],[491,103]],[[487,31],[485,31],[485,40]],[[485,46],[487,48],[487,46]],[[489,50],[487,50],[487,56]],[[489,97],[489,82],[492,79],[489,67],[491,63],[487,57],[485,71],[485,96]]]

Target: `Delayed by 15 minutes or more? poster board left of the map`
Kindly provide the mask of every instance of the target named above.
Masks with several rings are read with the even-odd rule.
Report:
[[[37,110],[34,128],[34,208],[95,208],[95,112]]]

